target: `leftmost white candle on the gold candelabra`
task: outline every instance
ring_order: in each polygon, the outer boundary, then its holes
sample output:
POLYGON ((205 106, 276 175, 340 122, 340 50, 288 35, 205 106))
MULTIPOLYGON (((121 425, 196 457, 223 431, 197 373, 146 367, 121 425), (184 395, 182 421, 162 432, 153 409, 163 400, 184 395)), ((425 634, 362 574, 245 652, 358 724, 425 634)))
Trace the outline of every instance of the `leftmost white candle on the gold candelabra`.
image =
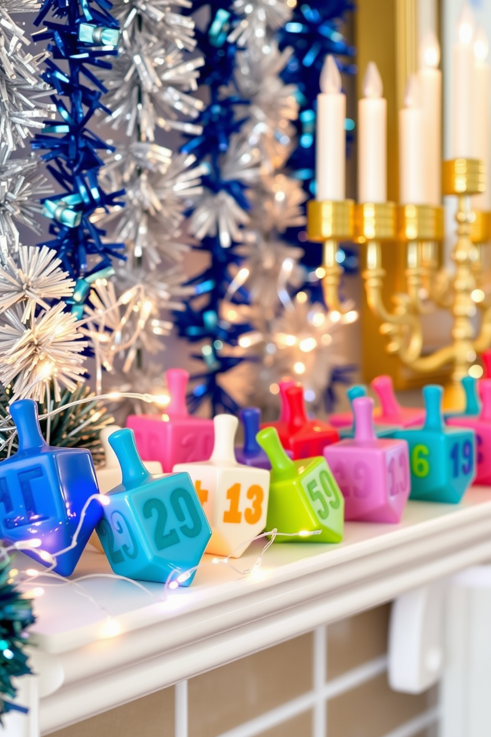
POLYGON ((346 96, 334 57, 326 57, 317 95, 317 200, 345 199, 346 96))

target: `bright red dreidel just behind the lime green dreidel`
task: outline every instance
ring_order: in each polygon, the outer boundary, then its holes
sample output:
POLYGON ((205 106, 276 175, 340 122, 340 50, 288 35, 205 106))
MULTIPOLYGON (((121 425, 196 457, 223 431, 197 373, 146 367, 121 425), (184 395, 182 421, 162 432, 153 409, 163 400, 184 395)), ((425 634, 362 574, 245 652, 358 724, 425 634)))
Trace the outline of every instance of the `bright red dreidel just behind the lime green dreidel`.
POLYGON ((286 401, 290 408, 288 447, 292 451, 292 458, 315 458, 322 455, 326 445, 339 441, 339 433, 327 422, 308 419, 301 386, 288 388, 286 401))

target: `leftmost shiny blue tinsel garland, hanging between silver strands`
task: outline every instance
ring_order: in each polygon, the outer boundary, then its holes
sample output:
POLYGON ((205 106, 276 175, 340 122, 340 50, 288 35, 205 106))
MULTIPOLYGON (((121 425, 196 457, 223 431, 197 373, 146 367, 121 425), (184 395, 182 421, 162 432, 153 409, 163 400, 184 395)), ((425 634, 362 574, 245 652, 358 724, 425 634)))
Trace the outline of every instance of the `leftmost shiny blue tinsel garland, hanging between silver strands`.
POLYGON ((45 0, 35 21, 43 24, 35 40, 49 41, 52 59, 46 61, 43 80, 54 88, 52 100, 60 115, 60 122, 47 122, 32 142, 32 148, 46 151, 41 158, 60 188, 60 194, 43 203, 54 236, 46 245, 57 251, 75 278, 124 258, 124 245, 104 242, 105 231, 91 222, 96 210, 121 205, 118 198, 124 194, 107 193, 99 185, 103 162, 98 152, 110 146, 88 129, 98 109, 109 112, 101 103, 105 87, 91 67, 110 69, 104 57, 118 53, 119 24, 110 9, 107 0, 45 0), (58 66, 58 60, 67 65, 58 66))

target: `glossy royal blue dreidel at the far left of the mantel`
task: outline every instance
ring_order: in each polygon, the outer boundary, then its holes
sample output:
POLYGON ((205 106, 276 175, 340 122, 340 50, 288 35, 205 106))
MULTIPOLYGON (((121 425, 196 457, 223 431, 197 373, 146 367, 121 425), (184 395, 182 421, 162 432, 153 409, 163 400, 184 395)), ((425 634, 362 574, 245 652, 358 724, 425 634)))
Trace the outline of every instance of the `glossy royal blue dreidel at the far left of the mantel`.
MULTIPOLYGON (((19 399, 10 405, 18 434, 18 451, 0 464, 0 537, 12 545, 40 539, 40 551, 52 555, 71 545, 89 497, 99 494, 92 456, 82 448, 49 446, 41 435, 38 405, 19 399)), ((56 556, 54 571, 70 576, 82 555, 102 506, 87 507, 72 550, 56 556)), ((25 551, 39 561, 38 554, 25 551)), ((51 565, 46 562, 45 565, 51 565)))

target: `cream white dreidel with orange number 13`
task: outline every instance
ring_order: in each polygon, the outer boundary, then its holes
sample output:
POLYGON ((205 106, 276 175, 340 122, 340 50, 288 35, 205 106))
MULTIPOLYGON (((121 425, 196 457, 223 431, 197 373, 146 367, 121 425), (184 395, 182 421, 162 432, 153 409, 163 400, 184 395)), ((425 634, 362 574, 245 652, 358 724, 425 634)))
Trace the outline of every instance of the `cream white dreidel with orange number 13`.
POLYGON ((209 461, 177 464, 186 471, 211 525, 207 553, 239 558, 248 543, 264 530, 268 511, 269 471, 236 461, 234 441, 239 420, 213 418, 215 444, 209 461))

